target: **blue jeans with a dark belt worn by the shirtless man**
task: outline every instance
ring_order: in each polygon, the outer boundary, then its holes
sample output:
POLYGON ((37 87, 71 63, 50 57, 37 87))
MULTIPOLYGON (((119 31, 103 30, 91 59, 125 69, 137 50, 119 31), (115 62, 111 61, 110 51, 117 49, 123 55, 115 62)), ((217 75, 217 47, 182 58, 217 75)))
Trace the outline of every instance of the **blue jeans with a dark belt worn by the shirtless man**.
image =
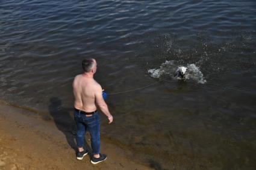
POLYGON ((99 125, 100 118, 98 112, 93 114, 91 117, 86 117, 86 115, 80 113, 80 111, 75 109, 74 119, 76 122, 77 132, 76 132, 76 145, 77 147, 83 147, 84 145, 84 134, 86 130, 89 130, 91 136, 91 146, 92 153, 99 154, 100 149, 100 135, 99 135, 99 125))

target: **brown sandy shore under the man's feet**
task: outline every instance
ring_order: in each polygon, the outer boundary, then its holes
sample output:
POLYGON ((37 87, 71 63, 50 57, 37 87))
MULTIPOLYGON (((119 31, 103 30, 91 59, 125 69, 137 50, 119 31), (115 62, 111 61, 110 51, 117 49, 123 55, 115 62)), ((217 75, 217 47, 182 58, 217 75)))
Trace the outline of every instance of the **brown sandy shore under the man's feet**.
MULTIPOLYGON (((90 144, 88 134, 86 139, 90 144)), ((151 169, 108 142, 101 142, 101 152, 108 157, 97 165, 90 163, 88 155, 76 160, 67 135, 53 121, 0 103, 0 169, 151 169)))

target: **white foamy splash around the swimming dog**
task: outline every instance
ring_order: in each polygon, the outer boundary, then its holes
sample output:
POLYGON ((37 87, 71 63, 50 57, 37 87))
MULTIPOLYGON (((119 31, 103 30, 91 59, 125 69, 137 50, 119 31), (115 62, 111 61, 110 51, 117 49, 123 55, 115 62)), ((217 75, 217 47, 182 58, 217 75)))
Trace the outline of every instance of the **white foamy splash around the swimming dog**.
MULTIPOLYGON (((172 78, 180 79, 179 77, 175 77, 174 75, 177 68, 181 66, 184 65, 175 64, 175 61, 165 61, 163 64, 160 65, 160 68, 149 69, 148 73, 151 77, 154 78, 160 78, 161 76, 170 76, 172 78)), ((192 79, 202 84, 207 82, 204 79, 204 74, 202 74, 199 67, 197 67, 195 64, 187 64, 186 67, 187 71, 184 76, 185 80, 192 79)))

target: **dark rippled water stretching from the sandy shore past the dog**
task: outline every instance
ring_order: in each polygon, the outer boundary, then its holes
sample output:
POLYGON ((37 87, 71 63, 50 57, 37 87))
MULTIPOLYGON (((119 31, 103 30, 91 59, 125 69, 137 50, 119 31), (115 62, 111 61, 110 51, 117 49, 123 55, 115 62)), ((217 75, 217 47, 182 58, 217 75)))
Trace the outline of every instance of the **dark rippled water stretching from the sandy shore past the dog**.
POLYGON ((108 96, 105 140, 155 169, 255 169, 255 9, 252 0, 2 0, 1 99, 61 111, 57 122, 72 129, 72 80, 93 57, 108 93, 138 88, 108 96), (167 74, 149 74, 166 61, 167 74), (200 75, 173 77, 188 65, 200 75))

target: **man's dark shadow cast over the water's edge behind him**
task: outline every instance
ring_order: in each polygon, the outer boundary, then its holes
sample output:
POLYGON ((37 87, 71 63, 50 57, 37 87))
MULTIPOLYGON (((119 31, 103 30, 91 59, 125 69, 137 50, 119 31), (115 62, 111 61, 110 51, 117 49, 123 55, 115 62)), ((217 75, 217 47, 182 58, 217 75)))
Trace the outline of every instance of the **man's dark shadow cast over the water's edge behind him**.
MULTIPOLYGON (((52 97, 50 99, 50 105, 48 106, 49 113, 54 119, 54 123, 58 130, 60 130, 65 136, 67 143, 73 150, 77 151, 76 148, 76 124, 73 120, 73 108, 63 108, 62 102, 58 97, 52 97), (72 116, 70 115, 72 112, 72 116)), ((92 150, 84 140, 84 148, 88 150, 89 156, 92 156, 92 150)))

